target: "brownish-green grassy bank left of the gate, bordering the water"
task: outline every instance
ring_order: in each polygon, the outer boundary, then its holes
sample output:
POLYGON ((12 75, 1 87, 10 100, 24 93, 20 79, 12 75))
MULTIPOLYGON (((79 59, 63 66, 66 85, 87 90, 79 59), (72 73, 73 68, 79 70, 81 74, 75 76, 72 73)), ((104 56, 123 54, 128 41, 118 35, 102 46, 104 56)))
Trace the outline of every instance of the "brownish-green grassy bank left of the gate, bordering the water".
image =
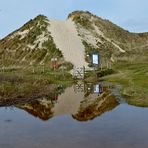
POLYGON ((67 71, 48 68, 7 69, 0 71, 0 100, 40 98, 73 82, 67 71))

